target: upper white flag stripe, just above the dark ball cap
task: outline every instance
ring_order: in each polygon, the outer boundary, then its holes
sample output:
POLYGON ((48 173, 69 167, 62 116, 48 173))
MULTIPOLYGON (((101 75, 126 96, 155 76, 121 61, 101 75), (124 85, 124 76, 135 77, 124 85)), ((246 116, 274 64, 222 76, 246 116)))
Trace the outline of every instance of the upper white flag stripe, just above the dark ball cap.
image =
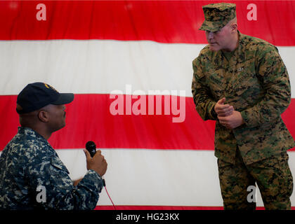
MULTIPOLYGON (((60 92, 125 93, 131 85, 132 93, 185 90, 192 97, 192 60, 202 48, 153 41, 2 41, 0 94, 18 94, 27 83, 44 81, 60 92)), ((278 49, 293 87, 295 47, 278 49)))

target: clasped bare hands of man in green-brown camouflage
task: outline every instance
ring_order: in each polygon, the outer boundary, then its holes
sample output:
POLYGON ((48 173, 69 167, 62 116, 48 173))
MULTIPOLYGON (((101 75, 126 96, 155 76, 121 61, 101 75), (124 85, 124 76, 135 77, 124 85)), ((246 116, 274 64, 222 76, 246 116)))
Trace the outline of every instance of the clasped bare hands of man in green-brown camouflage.
POLYGON ((219 123, 228 129, 234 129, 244 124, 244 120, 239 111, 235 111, 230 104, 224 104, 225 97, 219 99, 214 106, 219 123))

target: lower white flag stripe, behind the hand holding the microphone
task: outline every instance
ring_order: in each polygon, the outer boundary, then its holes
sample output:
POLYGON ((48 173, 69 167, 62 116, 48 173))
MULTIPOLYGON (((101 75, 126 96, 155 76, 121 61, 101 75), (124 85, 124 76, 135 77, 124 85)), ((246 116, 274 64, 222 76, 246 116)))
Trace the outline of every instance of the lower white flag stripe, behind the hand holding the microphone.
MULTIPOLYGON (((214 151, 100 149, 108 162, 105 181, 117 205, 223 206, 214 151)), ((86 172, 82 149, 58 150, 72 179, 86 172), (83 169, 84 168, 84 169, 83 169)), ((288 152, 295 174, 295 152, 288 152)), ((291 196, 295 204, 295 195, 291 196)), ((98 205, 111 205, 105 190, 98 205)), ((257 206, 263 206, 259 190, 257 206)))

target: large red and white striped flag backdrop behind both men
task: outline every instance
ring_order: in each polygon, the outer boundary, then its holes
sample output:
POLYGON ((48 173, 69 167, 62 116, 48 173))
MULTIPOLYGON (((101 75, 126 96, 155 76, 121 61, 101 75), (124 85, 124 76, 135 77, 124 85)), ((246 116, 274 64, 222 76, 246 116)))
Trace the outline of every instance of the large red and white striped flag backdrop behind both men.
MULTIPOLYGON (((41 81, 75 94, 49 139, 72 179, 84 176, 92 140, 118 208, 222 209, 215 122, 199 117, 191 93, 192 60, 206 45, 202 6, 218 2, 0 1, 0 151, 19 126, 18 93, 41 81)), ((295 137, 295 1, 226 2, 242 34, 277 46, 292 89, 282 118, 295 137)), ((112 209, 105 190, 96 209, 112 209)))

